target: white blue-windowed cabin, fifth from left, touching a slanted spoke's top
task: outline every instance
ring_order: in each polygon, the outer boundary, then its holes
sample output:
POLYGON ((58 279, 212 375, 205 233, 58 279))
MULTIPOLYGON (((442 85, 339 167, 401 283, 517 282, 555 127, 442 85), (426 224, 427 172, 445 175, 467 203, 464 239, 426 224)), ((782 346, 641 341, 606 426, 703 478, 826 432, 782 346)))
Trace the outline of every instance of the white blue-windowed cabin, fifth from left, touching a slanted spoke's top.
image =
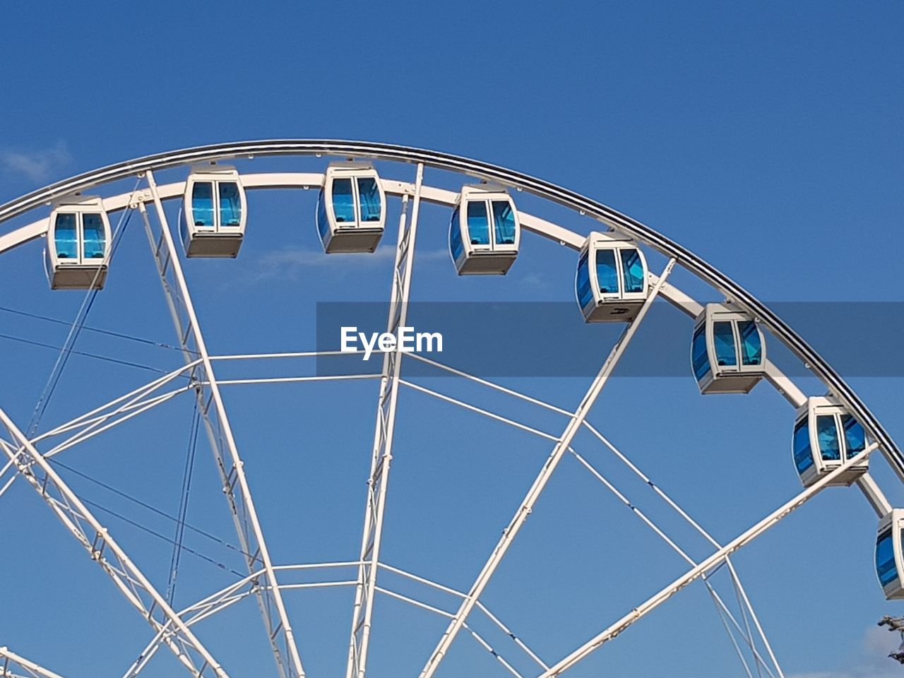
POLYGON ((580 250, 575 293, 588 323, 634 320, 649 293, 644 253, 627 236, 590 233, 580 250))

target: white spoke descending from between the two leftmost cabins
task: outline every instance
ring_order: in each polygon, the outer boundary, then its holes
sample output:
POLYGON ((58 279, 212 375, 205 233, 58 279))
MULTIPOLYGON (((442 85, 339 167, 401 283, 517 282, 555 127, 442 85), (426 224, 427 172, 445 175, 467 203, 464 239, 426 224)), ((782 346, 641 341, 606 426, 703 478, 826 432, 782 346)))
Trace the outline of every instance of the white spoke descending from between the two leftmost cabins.
POLYGON ((204 428, 207 430, 207 436, 214 457, 216 457, 217 468, 223 484, 223 494, 226 495, 230 504, 232 519, 239 535, 240 548, 245 554, 246 566, 249 572, 258 570, 258 565, 261 565, 264 570, 267 586, 257 587, 256 594, 278 672, 281 678, 304 678, 305 671, 298 654, 292 626, 288 621, 286 606, 283 603, 282 594, 279 592, 276 571, 270 560, 258 514, 251 500, 250 485, 245 475, 244 464, 232 436, 230 421, 226 416, 220 388, 213 373, 211 355, 207 351, 201 326, 195 315, 192 297, 189 295, 182 263, 166 220, 163 202, 157 192, 153 172, 148 170, 146 178, 160 227, 159 235, 155 234, 145 203, 138 202, 137 207, 145 222, 148 241, 154 254, 176 333, 182 345, 185 362, 195 363, 191 374, 198 400, 198 410, 202 414, 204 428))

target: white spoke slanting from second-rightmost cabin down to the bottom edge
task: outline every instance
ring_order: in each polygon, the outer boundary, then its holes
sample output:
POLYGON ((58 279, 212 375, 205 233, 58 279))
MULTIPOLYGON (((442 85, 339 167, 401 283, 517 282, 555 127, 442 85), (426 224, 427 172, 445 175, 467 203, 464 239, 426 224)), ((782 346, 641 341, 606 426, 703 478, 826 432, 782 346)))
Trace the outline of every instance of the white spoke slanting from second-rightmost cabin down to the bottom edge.
POLYGON ((872 443, 860 454, 852 457, 851 459, 848 459, 841 466, 835 468, 831 473, 826 474, 818 481, 816 481, 813 485, 807 487, 803 492, 797 494, 793 499, 779 506, 775 511, 769 513, 765 518, 749 528, 749 530, 741 533, 738 537, 736 537, 732 541, 729 541, 727 544, 725 544, 725 546, 713 553, 710 557, 702 560, 701 563, 695 568, 692 568, 691 570, 685 572, 683 576, 675 579, 672 583, 664 587, 664 589, 660 590, 658 593, 655 593, 650 598, 647 598, 645 602, 632 609, 624 617, 618 619, 615 624, 608 626, 596 636, 590 638, 587 643, 581 645, 574 652, 562 659, 558 664, 551 666, 550 670, 542 673, 540 678, 554 678, 555 676, 559 676, 561 673, 564 673, 575 664, 578 664, 582 659, 598 650, 599 647, 605 645, 609 640, 624 632, 638 619, 645 617, 656 607, 659 607, 666 600, 672 598, 676 593, 678 593, 678 591, 690 584, 694 579, 702 577, 702 575, 718 566, 732 553, 738 551, 741 547, 756 539, 763 532, 767 532, 769 528, 773 527, 782 519, 786 518, 786 516, 796 511, 796 509, 806 504, 816 494, 819 494, 827 485, 829 485, 837 476, 842 475, 851 466, 865 461, 871 455, 872 451, 876 449, 876 447, 878 447, 878 445, 876 443, 872 443))

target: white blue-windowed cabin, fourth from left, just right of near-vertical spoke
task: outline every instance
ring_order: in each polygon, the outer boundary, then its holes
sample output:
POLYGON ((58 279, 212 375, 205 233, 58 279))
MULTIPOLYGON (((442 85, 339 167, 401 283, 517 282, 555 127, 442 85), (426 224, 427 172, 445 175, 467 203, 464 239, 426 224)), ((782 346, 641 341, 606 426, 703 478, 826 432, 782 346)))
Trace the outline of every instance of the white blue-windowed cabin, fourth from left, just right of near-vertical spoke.
POLYGON ((518 211, 503 188, 462 187, 449 221, 449 253, 459 276, 504 276, 520 240, 518 211))

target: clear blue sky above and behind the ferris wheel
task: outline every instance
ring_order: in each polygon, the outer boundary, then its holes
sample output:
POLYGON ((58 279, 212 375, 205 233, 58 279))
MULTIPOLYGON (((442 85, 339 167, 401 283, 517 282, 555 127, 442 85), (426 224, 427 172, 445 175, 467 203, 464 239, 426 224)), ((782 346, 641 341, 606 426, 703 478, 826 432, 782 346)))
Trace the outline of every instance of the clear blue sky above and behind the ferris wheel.
MULTIPOLYGON (((586 193, 663 231, 767 301, 902 300, 896 285, 904 244, 899 4, 259 3, 252 11, 231 2, 161 2, 153 11, 95 3, 4 14, 0 202, 71 174, 184 146, 266 137, 367 139, 475 157, 586 193)), ((241 169, 322 167, 313 160, 255 163, 241 169)), ((410 167, 381 171, 413 178, 410 167)), ((452 186, 460 180, 434 173, 427 181, 452 186)), ((316 300, 388 294, 385 252, 327 259, 315 238, 314 196, 266 193, 251 197, 249 238, 239 259, 186 266, 214 353, 310 349, 316 300)), ((391 215, 397 209, 393 204, 391 215)), ((561 214, 553 210, 551 218, 561 214)), ((439 208, 422 213, 414 298, 572 298, 574 254, 536 238, 524 239, 510 276, 457 278, 443 253, 446 220, 439 208)), ((394 235, 391 227, 387 238, 394 235)), ((122 242, 89 325, 174 343, 137 218, 122 242)), ((81 296, 47 289, 40 243, 7 253, 3 264, 2 306, 74 317, 81 296)), ((681 281, 689 291, 701 289, 681 281)), ((842 326, 843 306, 835 312, 842 326)), ((0 317, 3 334, 55 345, 65 337, 61 325, 0 317)), ((585 330, 577 309, 574 327, 585 330)), ((690 331, 689 322, 686 336, 666 340, 686 343, 690 331)), ((807 338, 817 346, 826 341, 807 338)), ((8 340, 0 346, 0 406, 24 423, 56 355, 8 340)), ((77 348, 161 369, 179 361, 166 349, 97 334, 83 335, 77 348)), ((857 349, 852 341, 850 351, 857 349)), ((73 359, 44 421, 70 419, 152 377, 73 359)), ((574 408, 587 387, 586 379, 510 382, 564 408, 574 408)), ((558 433, 563 425, 466 385, 430 383, 544 430, 558 433)), ((904 439, 901 378, 852 383, 891 434, 904 439)), ((815 382, 803 386, 822 392, 815 382)), ((235 387, 226 398, 275 559, 355 558, 374 384, 235 387)), ((191 414, 191 400, 174 400, 61 461, 174 513, 191 414)), ((788 451, 792 416, 766 385, 745 398, 702 399, 688 374, 614 380, 590 419, 720 539, 729 539, 799 488, 788 451)), ((576 445, 694 555, 706 554, 679 523, 668 523, 673 518, 643 484, 619 475, 593 439, 576 445)), ((404 392, 387 558, 467 588, 548 452, 546 441, 404 392)), ((901 505, 899 485, 877 462, 876 477, 901 505)), ((172 531, 159 516, 67 473, 92 501, 172 531)), ((234 542, 203 446, 195 477, 189 521, 234 542)), ((15 582, 0 605, 18 611, 0 616, 0 645, 65 676, 118 675, 146 642, 147 627, 33 494, 17 483, 0 497, 0 539, 14 554, 0 571, 15 582)), ((169 545, 107 519, 152 579, 165 584, 169 545)), ((240 566, 221 544, 187 539, 213 560, 240 566)), ((833 490, 739 555, 741 578, 787 675, 897 674, 884 659, 894 639, 873 626, 882 615, 900 613, 884 601, 872 572, 874 539, 874 515, 860 494, 833 490)), ((487 603, 554 660, 681 571, 683 562, 570 459, 488 589, 487 603)), ((176 600, 184 605, 231 580, 227 570, 189 555, 182 577, 176 600)), ((287 598, 312 676, 343 665, 350 589, 336 590, 287 598)), ((373 675, 418 671, 443 621, 392 600, 380 606, 385 623, 374 632, 380 643, 373 675)), ((233 676, 268 672, 257 623, 249 600, 199 626, 199 635, 234 667, 233 676)), ((469 639, 461 638, 456 652, 442 675, 498 670, 469 639)), ((664 669, 680 676, 742 674, 699 584, 574 675, 664 669)), ((147 674, 174 671, 161 654, 147 674)))

